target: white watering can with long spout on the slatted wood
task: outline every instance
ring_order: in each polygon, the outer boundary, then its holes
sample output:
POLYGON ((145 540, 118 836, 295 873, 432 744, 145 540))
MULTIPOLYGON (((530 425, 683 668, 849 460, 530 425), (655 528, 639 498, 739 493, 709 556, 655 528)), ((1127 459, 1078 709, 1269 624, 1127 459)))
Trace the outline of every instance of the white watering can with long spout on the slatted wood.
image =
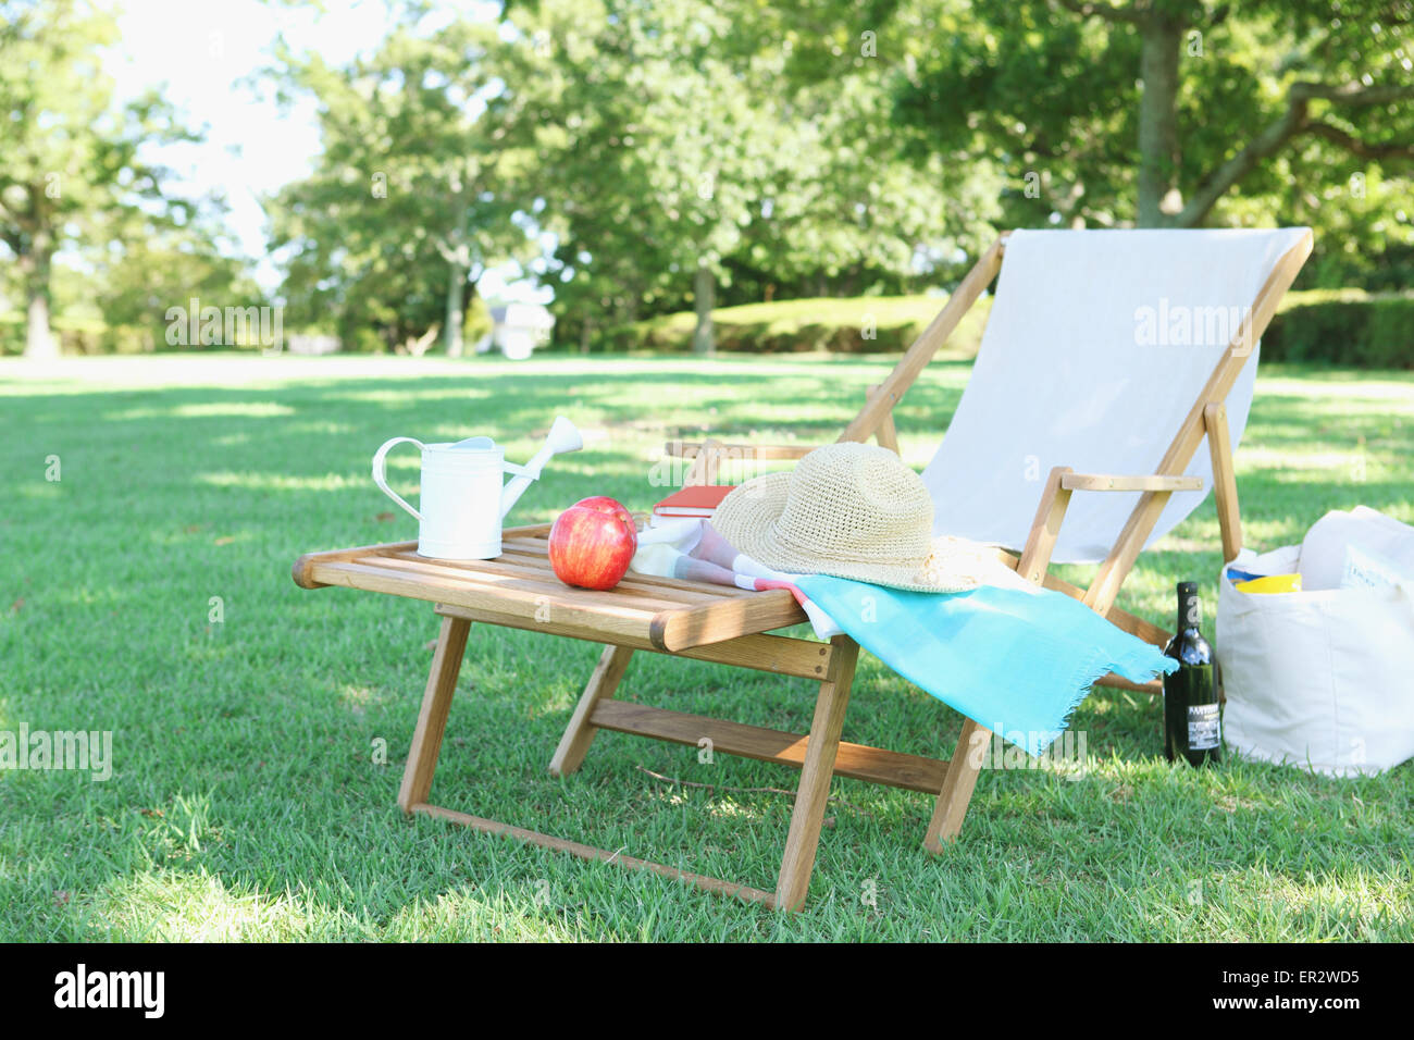
POLYGON ((489 560, 501 555, 501 521, 516 499, 540 477, 551 456, 578 451, 584 439, 564 416, 554 420, 544 447, 525 466, 506 461, 506 450, 491 437, 468 437, 455 444, 424 444, 416 437, 393 437, 373 456, 373 483, 417 518, 417 555, 443 560, 489 560), (385 460, 395 444, 417 444, 423 453, 421 509, 414 509, 387 487, 385 460), (501 474, 515 477, 502 487, 501 474))

